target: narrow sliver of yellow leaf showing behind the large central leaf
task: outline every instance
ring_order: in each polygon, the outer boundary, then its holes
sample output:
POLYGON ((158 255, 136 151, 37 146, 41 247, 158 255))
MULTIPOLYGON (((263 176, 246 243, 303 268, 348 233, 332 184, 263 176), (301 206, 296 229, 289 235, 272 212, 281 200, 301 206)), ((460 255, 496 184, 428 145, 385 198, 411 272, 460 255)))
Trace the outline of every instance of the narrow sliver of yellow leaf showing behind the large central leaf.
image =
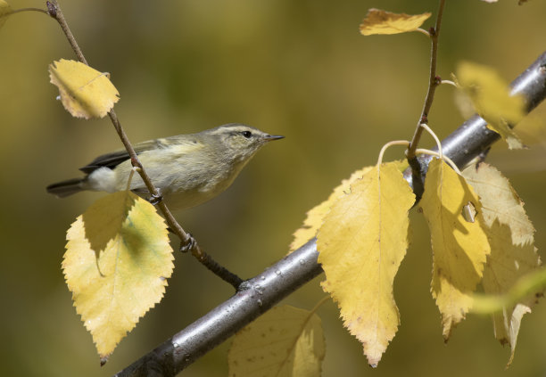
POLYGON ((326 201, 323 201, 307 212, 307 217, 303 221, 302 227, 294 232, 294 241, 290 244, 290 252, 300 248, 305 242, 308 242, 317 235, 318 228, 322 225, 322 220, 330 211, 332 204, 343 193, 349 193, 352 182, 360 179, 371 168, 373 167, 366 167, 353 172, 349 179, 343 179, 342 183, 335 187, 334 192, 330 194, 326 201))

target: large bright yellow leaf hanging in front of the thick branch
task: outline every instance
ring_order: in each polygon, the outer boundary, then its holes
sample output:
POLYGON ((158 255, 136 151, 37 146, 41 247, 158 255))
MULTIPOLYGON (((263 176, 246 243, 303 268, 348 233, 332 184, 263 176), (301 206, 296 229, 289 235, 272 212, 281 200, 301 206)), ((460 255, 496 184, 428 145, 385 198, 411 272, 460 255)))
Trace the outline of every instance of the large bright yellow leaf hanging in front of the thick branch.
POLYGON ((408 211, 415 202, 393 162, 369 169, 335 201, 318 231, 322 283, 343 324, 376 366, 398 329, 393 280, 408 248, 408 211))

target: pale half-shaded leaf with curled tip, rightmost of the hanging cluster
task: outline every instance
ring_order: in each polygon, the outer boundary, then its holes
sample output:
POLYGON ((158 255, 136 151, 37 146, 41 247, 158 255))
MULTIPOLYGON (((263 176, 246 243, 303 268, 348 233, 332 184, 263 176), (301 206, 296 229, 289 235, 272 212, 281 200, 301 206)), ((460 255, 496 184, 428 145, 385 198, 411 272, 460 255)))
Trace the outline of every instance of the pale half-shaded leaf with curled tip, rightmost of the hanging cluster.
MULTIPOLYGON (((523 202, 499 170, 481 163, 477 168, 465 169, 463 175, 480 196, 485 230, 491 242, 491 255, 484 267, 484 292, 508 293, 522 276, 541 266, 534 248, 534 226, 525 214, 523 202)), ((495 338, 510 345, 509 364, 514 357, 521 318, 531 312, 537 292, 525 293, 525 297, 492 315, 495 338)))

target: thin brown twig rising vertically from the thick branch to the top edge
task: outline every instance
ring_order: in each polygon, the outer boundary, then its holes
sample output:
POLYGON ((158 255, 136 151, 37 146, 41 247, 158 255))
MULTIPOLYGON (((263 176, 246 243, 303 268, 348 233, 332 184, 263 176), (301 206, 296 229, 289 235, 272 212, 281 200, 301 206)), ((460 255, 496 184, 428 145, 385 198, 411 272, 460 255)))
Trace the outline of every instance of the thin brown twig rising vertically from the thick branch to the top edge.
MULTIPOLYGON (((442 16, 443 16, 443 6, 445 5, 445 0, 440 0, 438 7, 438 14, 436 15, 436 25, 434 28, 431 28, 429 31, 429 36, 431 39, 431 53, 430 53, 430 75, 428 78, 428 91, 426 92, 425 104, 423 105, 423 111, 421 111, 421 116, 418 120, 418 126, 415 129, 415 134, 409 143, 408 152, 406 152, 409 165, 414 167, 418 164, 412 163, 412 160, 416 159, 415 151, 418 147, 419 139, 423 133, 423 128, 420 127, 421 123, 426 123, 428 119, 428 113, 432 107, 434 101, 434 91, 436 86, 440 85, 442 82, 441 78, 436 77, 436 60, 438 55, 438 37, 440 36, 440 27, 442 26, 442 16)), ((416 172, 417 173, 417 172, 416 172)), ((420 175, 420 172, 418 172, 420 175)))

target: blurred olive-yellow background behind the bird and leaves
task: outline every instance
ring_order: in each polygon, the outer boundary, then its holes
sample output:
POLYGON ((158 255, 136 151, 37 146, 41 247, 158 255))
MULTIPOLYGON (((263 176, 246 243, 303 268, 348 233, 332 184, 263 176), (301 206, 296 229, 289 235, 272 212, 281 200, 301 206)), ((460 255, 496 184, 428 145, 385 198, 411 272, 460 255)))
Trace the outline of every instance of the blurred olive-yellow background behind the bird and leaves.
MULTIPOLYGON (((446 5, 438 73, 458 61, 496 67, 515 78, 546 49, 546 2, 478 0, 446 5)), ((14 8, 44 7, 12 0, 14 8)), ((264 148, 219 198, 178 216, 222 264, 250 277, 285 255, 305 212, 344 177, 376 162, 383 143, 413 135, 427 86, 429 43, 418 33, 362 37, 370 7, 435 11, 437 1, 310 0, 62 1, 87 60, 108 71, 121 100, 116 111, 133 142, 244 122, 283 141, 264 148)), ((425 28, 432 26, 432 20, 425 28)), ((45 185, 78 176, 95 155, 120 148, 105 119, 73 119, 55 101, 47 65, 73 54, 61 29, 41 13, 22 13, 0 30, 0 311, 4 376, 108 376, 192 323, 232 290, 186 255, 160 305, 121 341, 103 368, 63 282, 65 231, 101 196, 56 200, 45 185)), ((442 86, 430 116, 441 137, 463 121, 454 89, 442 86)), ((542 106, 534 119, 546 121, 542 106), (542 118, 542 119, 541 119, 542 118)), ((546 137, 536 122, 519 127, 523 152, 498 143, 490 160, 527 203, 546 246, 546 137)), ((423 147, 431 146, 425 138, 423 147)), ((387 158, 402 156, 393 149, 387 158)), ((327 338, 324 375, 546 374, 546 307, 525 316, 516 357, 492 336, 483 316, 468 316, 447 345, 430 296, 431 251, 425 222, 411 214, 413 243, 395 280, 400 330, 376 370, 343 330, 335 306, 319 310, 327 338)), ((310 308, 318 282, 285 301, 310 308)), ((189 367, 186 376, 227 373, 229 341, 189 367)))

